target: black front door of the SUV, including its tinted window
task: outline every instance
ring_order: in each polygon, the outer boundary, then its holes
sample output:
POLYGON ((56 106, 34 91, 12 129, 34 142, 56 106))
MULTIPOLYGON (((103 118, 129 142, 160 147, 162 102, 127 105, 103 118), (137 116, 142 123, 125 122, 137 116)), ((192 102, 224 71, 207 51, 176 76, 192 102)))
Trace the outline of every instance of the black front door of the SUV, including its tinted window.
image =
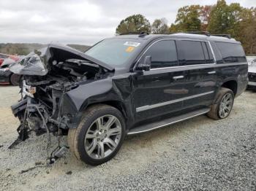
POLYGON ((138 121, 180 110, 179 98, 184 95, 184 71, 173 71, 178 66, 176 42, 170 39, 154 42, 139 62, 147 55, 151 55, 150 71, 138 72, 133 79, 138 121))

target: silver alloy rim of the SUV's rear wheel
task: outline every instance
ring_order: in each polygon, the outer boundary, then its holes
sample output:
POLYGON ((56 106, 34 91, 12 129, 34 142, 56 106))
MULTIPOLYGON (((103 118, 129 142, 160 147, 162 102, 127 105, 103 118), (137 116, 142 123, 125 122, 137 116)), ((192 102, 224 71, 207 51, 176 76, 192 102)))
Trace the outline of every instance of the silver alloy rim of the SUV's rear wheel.
POLYGON ((231 93, 227 93, 223 96, 222 101, 220 101, 219 104, 219 117, 225 118, 228 114, 230 114, 230 111, 233 106, 233 95, 231 93))

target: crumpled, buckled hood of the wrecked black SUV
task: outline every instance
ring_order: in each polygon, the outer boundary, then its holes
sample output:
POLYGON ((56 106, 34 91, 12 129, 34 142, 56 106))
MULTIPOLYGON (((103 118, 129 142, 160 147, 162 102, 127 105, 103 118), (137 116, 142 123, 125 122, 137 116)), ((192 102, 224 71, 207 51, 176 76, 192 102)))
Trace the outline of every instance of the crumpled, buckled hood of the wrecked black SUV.
POLYGON ((113 67, 108 64, 91 58, 89 55, 75 50, 72 47, 60 44, 49 44, 48 47, 42 48, 41 50, 35 50, 20 59, 20 61, 13 63, 10 66, 10 71, 20 75, 45 76, 50 69, 50 63, 64 62, 67 61, 67 59, 72 58, 96 63, 109 71, 114 70, 113 67))

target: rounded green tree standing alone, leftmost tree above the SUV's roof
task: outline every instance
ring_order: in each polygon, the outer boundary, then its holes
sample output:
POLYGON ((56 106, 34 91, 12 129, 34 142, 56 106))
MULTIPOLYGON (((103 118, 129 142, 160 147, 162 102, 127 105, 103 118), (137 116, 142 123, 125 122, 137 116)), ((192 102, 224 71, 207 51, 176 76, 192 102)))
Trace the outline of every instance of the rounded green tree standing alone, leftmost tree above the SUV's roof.
POLYGON ((128 32, 142 32, 151 31, 149 21, 143 15, 131 15, 124 20, 121 20, 116 28, 116 34, 128 33, 128 32))

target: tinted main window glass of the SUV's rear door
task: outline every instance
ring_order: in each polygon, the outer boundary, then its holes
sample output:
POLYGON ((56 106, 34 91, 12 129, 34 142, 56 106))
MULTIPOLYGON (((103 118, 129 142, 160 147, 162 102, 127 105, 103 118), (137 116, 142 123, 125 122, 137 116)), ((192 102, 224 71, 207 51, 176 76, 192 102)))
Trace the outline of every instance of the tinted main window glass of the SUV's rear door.
POLYGON ((206 63, 203 47, 199 41, 181 41, 181 51, 184 54, 185 65, 206 63))

